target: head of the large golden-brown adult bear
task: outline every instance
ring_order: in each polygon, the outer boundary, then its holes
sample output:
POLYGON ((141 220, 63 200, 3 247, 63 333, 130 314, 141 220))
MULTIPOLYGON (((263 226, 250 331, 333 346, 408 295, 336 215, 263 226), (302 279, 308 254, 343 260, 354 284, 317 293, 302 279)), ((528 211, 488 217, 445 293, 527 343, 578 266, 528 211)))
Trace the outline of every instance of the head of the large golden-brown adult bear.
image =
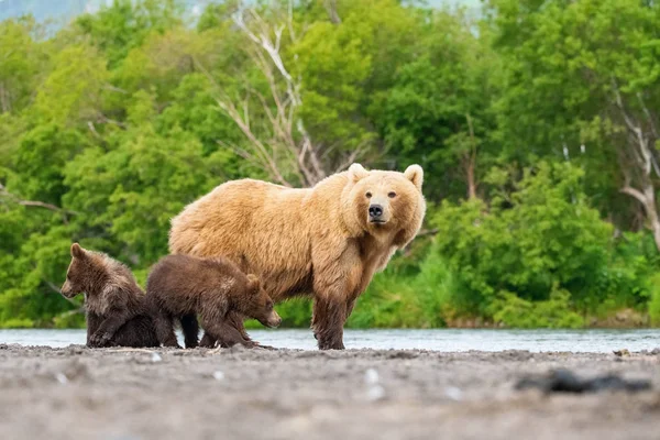
MULTIPOLYGON (((366 170, 353 164, 342 195, 342 211, 349 226, 373 235, 396 233, 421 226, 426 204, 421 194, 424 170, 410 165, 404 173, 366 170)), ((354 229, 354 228, 352 228, 354 229)))

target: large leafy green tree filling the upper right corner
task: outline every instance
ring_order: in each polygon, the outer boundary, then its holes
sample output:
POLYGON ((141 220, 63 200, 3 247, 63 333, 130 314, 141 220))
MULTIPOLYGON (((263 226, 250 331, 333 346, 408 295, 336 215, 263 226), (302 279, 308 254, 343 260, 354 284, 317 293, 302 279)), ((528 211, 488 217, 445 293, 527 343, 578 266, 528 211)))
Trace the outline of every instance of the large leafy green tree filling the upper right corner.
POLYGON ((583 162, 594 175, 618 165, 617 178, 604 185, 644 207, 660 250, 657 6, 632 0, 491 4, 509 66, 498 107, 501 139, 509 152, 586 154, 583 162))

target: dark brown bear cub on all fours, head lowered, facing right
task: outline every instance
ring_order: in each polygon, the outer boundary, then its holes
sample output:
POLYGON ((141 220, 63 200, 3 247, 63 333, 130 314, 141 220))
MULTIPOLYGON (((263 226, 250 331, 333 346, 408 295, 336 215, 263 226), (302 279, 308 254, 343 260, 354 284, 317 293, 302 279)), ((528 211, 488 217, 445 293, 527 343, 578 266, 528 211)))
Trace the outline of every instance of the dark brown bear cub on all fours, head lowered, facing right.
POLYGON ((186 348, 198 345, 198 322, 205 330, 201 346, 255 346, 232 323, 231 316, 254 318, 277 327, 282 318, 258 278, 245 275, 224 257, 199 258, 168 255, 152 268, 146 280, 146 299, 164 346, 179 346, 174 321, 180 322, 186 348))

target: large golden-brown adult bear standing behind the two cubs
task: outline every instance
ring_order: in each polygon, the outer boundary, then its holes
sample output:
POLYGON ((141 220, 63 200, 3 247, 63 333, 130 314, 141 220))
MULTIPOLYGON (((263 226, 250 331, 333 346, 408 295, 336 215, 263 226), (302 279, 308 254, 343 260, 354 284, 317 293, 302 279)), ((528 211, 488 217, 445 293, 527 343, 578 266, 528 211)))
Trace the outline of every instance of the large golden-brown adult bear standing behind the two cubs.
POLYGON ((256 274, 275 301, 314 295, 319 348, 343 349, 356 298, 421 227, 422 179, 419 165, 397 173, 353 164, 308 189, 228 182, 172 220, 169 250, 224 255, 256 274))

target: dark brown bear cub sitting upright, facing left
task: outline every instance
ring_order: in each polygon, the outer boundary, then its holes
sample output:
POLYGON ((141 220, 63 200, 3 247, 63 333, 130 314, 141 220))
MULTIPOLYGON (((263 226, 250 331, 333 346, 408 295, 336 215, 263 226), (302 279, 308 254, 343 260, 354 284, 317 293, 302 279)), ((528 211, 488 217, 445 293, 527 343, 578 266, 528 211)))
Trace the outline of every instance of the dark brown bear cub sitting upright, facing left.
POLYGON ((158 346, 144 292, 133 273, 100 252, 74 243, 62 295, 85 293, 87 346, 158 346))

